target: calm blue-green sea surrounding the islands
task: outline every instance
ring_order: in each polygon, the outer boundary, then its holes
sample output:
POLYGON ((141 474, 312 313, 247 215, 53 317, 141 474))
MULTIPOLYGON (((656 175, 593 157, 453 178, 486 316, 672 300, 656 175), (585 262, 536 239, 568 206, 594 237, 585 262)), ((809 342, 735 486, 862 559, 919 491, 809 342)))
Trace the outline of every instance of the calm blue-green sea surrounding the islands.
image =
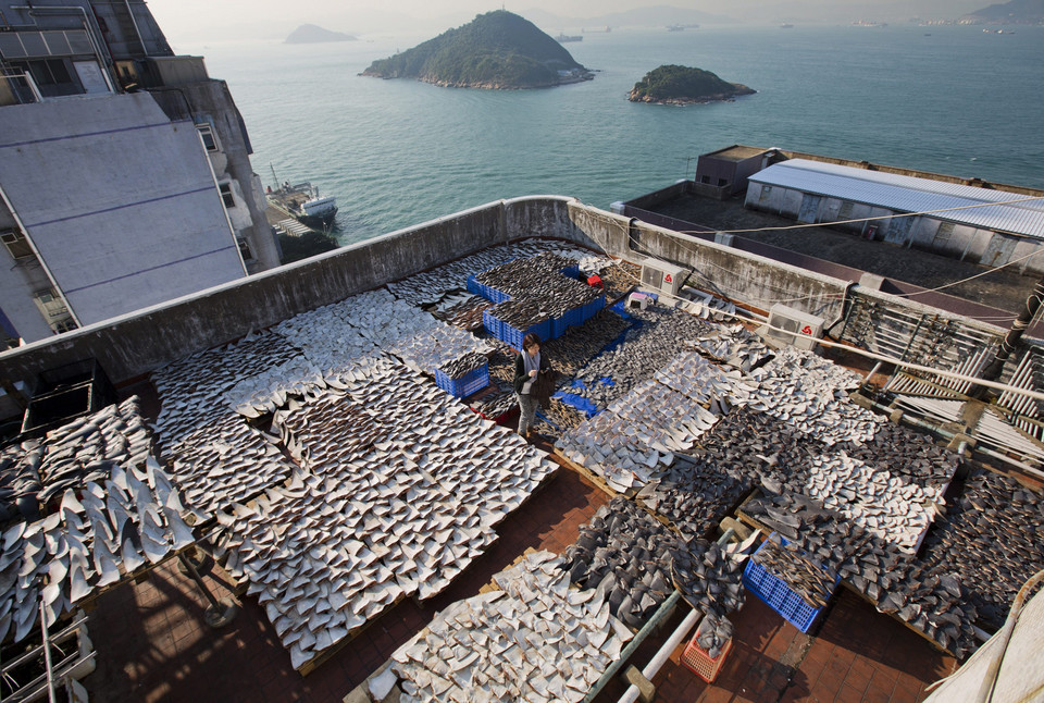
POLYGON ((343 243, 523 195, 607 208, 692 175, 731 144, 779 146, 1044 187, 1044 27, 617 29, 566 47, 598 73, 545 90, 439 88, 358 74, 427 36, 177 46, 228 82, 272 183, 337 196, 343 243), (758 94, 627 102, 646 72, 699 66, 758 94))

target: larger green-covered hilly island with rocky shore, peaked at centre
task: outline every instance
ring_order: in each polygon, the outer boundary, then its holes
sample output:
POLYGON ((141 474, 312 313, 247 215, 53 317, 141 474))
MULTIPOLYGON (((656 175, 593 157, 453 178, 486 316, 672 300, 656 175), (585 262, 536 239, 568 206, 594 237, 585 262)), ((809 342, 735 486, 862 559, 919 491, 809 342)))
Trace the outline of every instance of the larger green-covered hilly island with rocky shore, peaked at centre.
POLYGON ((546 88, 593 77, 562 45, 505 10, 480 14, 402 53, 374 61, 361 75, 500 90, 546 88))

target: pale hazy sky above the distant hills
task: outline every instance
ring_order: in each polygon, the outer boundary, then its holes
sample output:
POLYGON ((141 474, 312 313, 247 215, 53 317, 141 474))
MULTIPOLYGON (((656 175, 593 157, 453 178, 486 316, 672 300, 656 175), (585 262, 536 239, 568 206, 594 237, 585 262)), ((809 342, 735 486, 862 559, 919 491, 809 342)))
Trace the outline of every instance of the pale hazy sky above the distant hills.
MULTIPOLYGON (((526 16, 532 10, 577 20, 633 10, 671 5, 726 15, 741 22, 847 23, 868 18, 905 21, 913 15, 954 18, 991 4, 992 0, 505 0, 506 9, 526 16)), ((425 32, 435 36, 496 10, 488 0, 149 0, 167 40, 179 42, 220 39, 284 38, 301 24, 318 24, 349 34, 425 32)))

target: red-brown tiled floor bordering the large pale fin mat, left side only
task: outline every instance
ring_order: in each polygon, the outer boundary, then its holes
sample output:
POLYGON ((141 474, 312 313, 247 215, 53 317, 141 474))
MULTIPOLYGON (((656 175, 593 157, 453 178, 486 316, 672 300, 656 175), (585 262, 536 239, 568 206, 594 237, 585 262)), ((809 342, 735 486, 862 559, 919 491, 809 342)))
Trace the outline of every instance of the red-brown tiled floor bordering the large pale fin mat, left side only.
MULTIPOLYGON (((239 599, 236 619, 211 629, 203 622, 207 600, 169 562, 141 583, 125 583, 98 600, 88 622, 97 669, 84 683, 91 700, 107 703, 339 702, 435 613, 477 594, 529 547, 561 553, 608 501, 584 478, 560 468, 501 522, 497 542, 446 591, 421 603, 400 602, 307 677, 290 666, 257 599, 239 599)), ((234 584, 220 568, 204 581, 216 597, 234 599, 234 584)))

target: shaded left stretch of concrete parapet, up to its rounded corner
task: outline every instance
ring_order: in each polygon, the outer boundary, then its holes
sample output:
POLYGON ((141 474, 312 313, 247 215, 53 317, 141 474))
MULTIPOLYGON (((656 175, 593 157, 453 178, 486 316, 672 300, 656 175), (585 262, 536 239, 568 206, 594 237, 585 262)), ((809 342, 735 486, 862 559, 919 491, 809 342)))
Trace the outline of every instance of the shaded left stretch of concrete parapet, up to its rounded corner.
MULTIPOLYGON (((518 236, 561 236, 564 198, 493 203, 336 249, 306 261, 85 326, 0 354, 0 377, 30 381, 38 371, 97 358, 116 383, 194 351, 369 291, 518 236), (505 236, 507 234, 507 236, 505 236)), ((568 227, 567 227, 568 225, 568 227)), ((579 235, 574 238, 581 239, 579 235)))

